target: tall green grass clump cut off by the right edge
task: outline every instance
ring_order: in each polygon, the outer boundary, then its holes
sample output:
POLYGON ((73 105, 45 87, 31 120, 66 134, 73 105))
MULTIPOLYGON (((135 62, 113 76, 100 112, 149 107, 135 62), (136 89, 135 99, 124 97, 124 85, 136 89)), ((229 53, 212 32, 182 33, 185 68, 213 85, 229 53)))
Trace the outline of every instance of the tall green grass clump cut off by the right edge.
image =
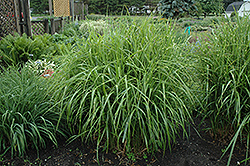
MULTIPOLYGON (((204 82, 202 114, 216 134, 234 132, 228 165, 238 138, 249 147, 250 24, 249 18, 217 25, 207 44, 197 49, 197 71, 204 82)), ((248 157, 248 148, 246 157, 248 157)))

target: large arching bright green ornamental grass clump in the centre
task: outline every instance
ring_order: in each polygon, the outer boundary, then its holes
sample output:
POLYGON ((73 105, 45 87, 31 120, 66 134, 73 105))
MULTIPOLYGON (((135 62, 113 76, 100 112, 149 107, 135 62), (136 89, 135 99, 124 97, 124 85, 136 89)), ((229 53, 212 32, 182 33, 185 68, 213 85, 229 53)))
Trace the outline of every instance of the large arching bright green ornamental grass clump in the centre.
POLYGON ((180 131, 187 136, 191 77, 178 60, 173 22, 150 22, 115 22, 103 36, 90 30, 75 56, 65 58, 53 97, 62 101, 71 139, 107 151, 154 152, 171 149, 180 131))

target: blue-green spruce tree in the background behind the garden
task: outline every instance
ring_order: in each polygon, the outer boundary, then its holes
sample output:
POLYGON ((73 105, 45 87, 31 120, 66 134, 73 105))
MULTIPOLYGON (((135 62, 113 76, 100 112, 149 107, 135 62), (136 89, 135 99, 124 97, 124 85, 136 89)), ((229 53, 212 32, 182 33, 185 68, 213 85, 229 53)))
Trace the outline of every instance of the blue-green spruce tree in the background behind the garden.
POLYGON ((190 10, 197 10, 193 0, 161 0, 160 10, 163 17, 178 18, 182 14, 190 13, 190 10))

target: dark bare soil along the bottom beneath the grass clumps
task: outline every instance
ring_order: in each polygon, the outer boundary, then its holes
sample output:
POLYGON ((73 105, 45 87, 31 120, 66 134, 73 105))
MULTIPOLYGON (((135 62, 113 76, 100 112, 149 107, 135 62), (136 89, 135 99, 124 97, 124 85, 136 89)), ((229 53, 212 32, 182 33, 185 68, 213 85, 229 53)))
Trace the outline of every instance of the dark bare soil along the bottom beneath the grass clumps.
MULTIPOLYGON (((204 124, 206 125, 206 124, 204 124)), ((203 125, 203 127, 205 127, 203 125)), ((197 132, 191 128, 189 140, 177 139, 172 152, 166 150, 157 152, 154 155, 124 155, 121 152, 100 152, 100 165, 131 165, 131 166, 226 166, 228 154, 220 160, 222 151, 225 149, 220 141, 213 140, 204 131, 197 132)), ((242 148, 243 149, 243 148, 242 148)), ((241 148, 236 148, 231 164, 232 166, 245 165, 239 163, 244 160, 245 152, 241 148)), ((35 151, 28 151, 25 158, 11 159, 9 154, 0 159, 0 165, 14 166, 73 166, 73 165, 98 165, 96 159, 95 146, 87 145, 76 140, 69 145, 65 141, 60 141, 58 148, 48 146, 40 151, 39 158, 35 151)), ((250 165, 250 163, 247 163, 250 165)))

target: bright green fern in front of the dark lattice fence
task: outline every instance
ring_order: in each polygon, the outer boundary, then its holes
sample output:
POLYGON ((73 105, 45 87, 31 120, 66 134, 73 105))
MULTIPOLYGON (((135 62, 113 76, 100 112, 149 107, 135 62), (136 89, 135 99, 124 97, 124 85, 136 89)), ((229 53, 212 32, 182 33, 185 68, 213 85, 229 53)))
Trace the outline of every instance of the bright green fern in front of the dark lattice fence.
POLYGON ((8 35, 0 41, 1 63, 3 66, 18 65, 29 59, 41 59, 44 55, 54 55, 57 45, 52 43, 51 35, 34 36, 29 38, 26 34, 20 36, 8 35))

